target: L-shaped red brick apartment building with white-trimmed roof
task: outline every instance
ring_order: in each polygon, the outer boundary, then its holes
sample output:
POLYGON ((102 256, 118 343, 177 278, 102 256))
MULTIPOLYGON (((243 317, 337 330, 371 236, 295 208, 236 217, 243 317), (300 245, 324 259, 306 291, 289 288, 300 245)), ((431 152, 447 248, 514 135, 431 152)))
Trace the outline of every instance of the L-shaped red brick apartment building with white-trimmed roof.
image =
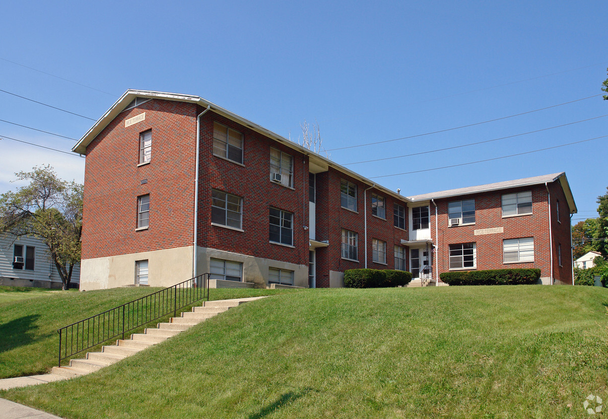
POLYGON ((212 286, 341 286, 365 267, 434 283, 534 266, 572 283, 563 173, 408 198, 201 97, 131 90, 73 151, 86 155, 81 289, 204 272, 212 286))

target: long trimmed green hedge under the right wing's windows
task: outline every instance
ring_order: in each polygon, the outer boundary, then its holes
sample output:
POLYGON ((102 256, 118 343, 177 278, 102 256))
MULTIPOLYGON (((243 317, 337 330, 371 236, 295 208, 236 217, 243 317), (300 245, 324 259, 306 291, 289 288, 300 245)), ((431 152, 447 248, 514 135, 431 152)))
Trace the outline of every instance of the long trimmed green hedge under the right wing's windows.
POLYGON ((439 277, 449 285, 520 285, 537 283, 541 269, 488 269, 486 271, 443 272, 439 277))

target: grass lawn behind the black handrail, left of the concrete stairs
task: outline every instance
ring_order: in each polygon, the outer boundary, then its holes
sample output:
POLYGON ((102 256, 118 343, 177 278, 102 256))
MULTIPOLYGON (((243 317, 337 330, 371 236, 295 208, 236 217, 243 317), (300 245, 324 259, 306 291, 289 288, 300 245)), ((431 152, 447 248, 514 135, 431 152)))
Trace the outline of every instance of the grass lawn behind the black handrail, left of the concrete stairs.
MULTIPOLYGON (((114 288, 80 293, 73 290, 2 287, 0 378, 48 372, 57 365, 58 328, 143 297, 157 289, 161 288, 114 288), (4 291, 4 288, 11 289, 4 291), (4 294, 14 297, 5 301, 2 299, 4 294)), ((271 293, 273 291, 265 289, 212 289, 210 297, 217 300, 271 293)), ((158 321, 160 320, 156 320, 158 321)), ((153 327, 156 322, 152 324, 153 327)), ((74 358, 83 358, 85 354, 86 351, 74 358)))

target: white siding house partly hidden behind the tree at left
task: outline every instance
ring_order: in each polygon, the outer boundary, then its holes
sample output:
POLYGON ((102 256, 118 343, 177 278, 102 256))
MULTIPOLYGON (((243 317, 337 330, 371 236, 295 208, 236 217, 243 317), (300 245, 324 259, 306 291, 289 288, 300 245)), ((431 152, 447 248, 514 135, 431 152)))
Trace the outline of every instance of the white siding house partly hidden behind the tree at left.
MULTIPOLYGON (((79 282, 80 263, 72 271, 72 287, 79 282)), ((0 234, 0 285, 61 288, 46 244, 35 237, 0 234)))

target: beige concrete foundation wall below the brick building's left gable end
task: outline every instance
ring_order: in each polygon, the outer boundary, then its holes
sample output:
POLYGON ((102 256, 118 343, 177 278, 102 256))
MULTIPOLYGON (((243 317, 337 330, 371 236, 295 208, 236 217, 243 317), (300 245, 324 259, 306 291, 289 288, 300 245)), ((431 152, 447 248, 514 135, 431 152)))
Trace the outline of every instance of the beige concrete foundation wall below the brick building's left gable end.
POLYGON ((148 260, 148 285, 171 286, 192 278, 192 246, 81 260, 80 290, 135 283, 135 262, 148 260))

